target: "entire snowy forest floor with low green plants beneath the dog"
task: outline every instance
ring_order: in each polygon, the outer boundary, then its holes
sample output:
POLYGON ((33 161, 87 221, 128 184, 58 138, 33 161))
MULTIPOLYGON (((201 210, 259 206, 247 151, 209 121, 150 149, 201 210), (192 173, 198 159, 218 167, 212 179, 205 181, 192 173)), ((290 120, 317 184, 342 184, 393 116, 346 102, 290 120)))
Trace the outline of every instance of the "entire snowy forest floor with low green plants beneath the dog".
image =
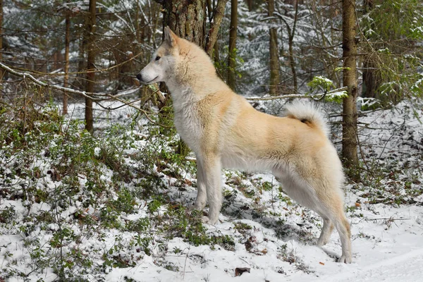
POLYGON ((98 109, 97 137, 68 118, 37 121, 23 139, 10 130, 0 281, 423 281, 422 107, 411 105, 360 115, 362 180, 344 189, 352 264, 336 262, 336 231, 315 245, 321 218, 268 173, 223 171, 219 223, 202 224, 188 210, 195 159, 132 109, 98 109))

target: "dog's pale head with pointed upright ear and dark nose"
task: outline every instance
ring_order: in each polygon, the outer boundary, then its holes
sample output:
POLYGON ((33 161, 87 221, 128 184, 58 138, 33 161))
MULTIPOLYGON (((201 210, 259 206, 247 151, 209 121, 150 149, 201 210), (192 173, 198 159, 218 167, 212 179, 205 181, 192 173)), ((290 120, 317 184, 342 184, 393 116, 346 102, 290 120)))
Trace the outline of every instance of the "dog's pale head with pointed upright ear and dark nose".
POLYGON ((169 27, 164 27, 163 42, 154 52, 152 61, 137 74, 142 84, 166 82, 170 78, 178 58, 178 40, 180 38, 169 27))

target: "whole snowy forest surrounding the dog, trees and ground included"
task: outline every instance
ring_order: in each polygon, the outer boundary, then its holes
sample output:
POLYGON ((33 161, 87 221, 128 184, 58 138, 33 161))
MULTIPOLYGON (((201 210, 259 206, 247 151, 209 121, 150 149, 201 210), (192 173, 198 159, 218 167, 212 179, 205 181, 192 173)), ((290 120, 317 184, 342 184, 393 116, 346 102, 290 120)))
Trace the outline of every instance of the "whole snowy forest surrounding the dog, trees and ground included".
POLYGON ((0 0, 0 282, 420 281, 422 95, 418 0, 0 0), (190 209, 172 93, 137 79, 165 27, 255 109, 323 111, 352 264, 266 171, 190 209))

